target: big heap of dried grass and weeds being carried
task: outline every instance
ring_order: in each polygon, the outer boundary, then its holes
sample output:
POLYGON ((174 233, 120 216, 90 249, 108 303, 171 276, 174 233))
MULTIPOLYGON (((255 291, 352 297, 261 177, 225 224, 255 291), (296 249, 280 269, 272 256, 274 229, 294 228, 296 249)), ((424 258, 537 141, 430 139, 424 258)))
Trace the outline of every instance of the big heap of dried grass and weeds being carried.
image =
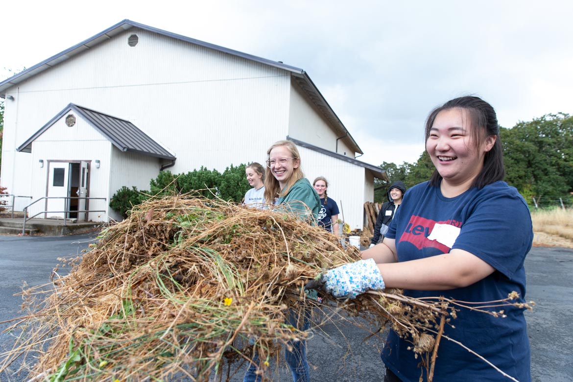
MULTIPOLYGON (((29 314, 7 329, 17 341, 0 371, 21 357, 42 381, 207 381, 256 349, 268 379, 281 347, 308 336, 285 324, 289 311, 320 307, 305 283, 358 258, 335 235, 285 212, 190 195, 150 199, 69 261, 55 292, 25 290, 29 314)), ((324 299, 337 305, 332 315, 343 310, 374 332, 389 324, 410 338, 430 370, 457 305, 400 292, 324 299)))

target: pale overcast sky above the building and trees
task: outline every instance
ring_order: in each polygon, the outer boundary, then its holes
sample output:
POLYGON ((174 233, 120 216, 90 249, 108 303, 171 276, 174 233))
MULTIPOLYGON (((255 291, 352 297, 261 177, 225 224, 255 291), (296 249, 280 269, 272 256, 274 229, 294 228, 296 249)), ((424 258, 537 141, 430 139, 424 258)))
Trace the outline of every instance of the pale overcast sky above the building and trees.
POLYGON ((123 19, 304 69, 359 160, 415 162, 436 105, 466 94, 503 127, 573 113, 573 1, 3 2, 0 74, 123 19))

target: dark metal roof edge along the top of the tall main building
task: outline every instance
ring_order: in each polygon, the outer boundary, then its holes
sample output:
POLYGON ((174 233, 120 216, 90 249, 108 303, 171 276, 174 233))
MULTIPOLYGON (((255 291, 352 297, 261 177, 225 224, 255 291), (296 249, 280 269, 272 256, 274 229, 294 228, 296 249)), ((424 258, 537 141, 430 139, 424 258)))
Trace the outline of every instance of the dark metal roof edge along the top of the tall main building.
POLYGON ((350 148, 354 152, 358 152, 360 154, 363 153, 362 150, 360 149, 360 147, 358 146, 358 144, 356 143, 356 141, 354 140, 354 138, 350 135, 350 133, 348 132, 346 127, 340 121, 340 119, 338 118, 336 113, 332 110, 330 105, 328 105, 328 103, 324 99, 323 95, 319 92, 319 90, 316 88, 315 84, 312 82, 311 78, 308 76, 308 74, 303 69, 296 68, 295 66, 291 66, 291 65, 285 65, 282 62, 267 60, 266 58, 253 56, 252 54, 242 53, 242 52, 239 52, 238 50, 223 48, 223 46, 209 44, 209 42, 195 40, 194 38, 181 36, 180 34, 171 33, 171 32, 166 31, 166 30, 162 30, 162 29, 158 29, 158 28, 155 28, 152 26, 140 24, 138 22, 131 21, 128 19, 120 21, 116 25, 113 25, 113 26, 109 27, 108 29, 101 31, 100 33, 96 34, 95 36, 92 36, 92 37, 88 38, 87 40, 84 40, 84 41, 80 42, 79 44, 74 45, 71 48, 64 50, 63 52, 56 54, 55 56, 52 56, 52 57, 48 58, 47 60, 44 60, 44 61, 40 62, 39 64, 32 66, 29 69, 23 70, 20 73, 14 74, 14 76, 7 78, 7 80, 0 82, 0 97, 5 98, 6 97, 6 90, 11 88, 11 86, 17 85, 20 82, 25 81, 28 78, 30 78, 30 77, 32 77, 32 76, 34 76, 40 72, 43 72, 44 70, 52 68, 52 66, 57 65, 62 61, 68 60, 69 58, 72 58, 73 56, 76 56, 77 54, 85 52, 85 50, 89 50, 89 49, 93 48, 94 46, 100 44, 101 42, 110 40, 112 37, 117 36, 117 34, 120 34, 125 30, 131 29, 132 27, 151 31, 153 33, 158 33, 158 34, 161 34, 163 36, 176 38, 177 40, 190 42, 191 44, 204 46, 205 48, 218 50, 219 52, 231 54, 231 55, 237 56, 237 57, 242 57, 242 58, 245 58, 246 60, 252 60, 252 61, 260 62, 261 64, 274 66, 275 68, 279 68, 279 69, 283 69, 283 70, 287 70, 288 72, 291 72, 292 75, 295 77, 296 82, 300 86, 300 88, 303 89, 303 91, 307 94, 309 99, 311 99, 312 102, 316 105, 316 107, 323 113, 324 117, 328 121, 330 121, 330 123, 332 123, 332 125, 335 127, 335 129, 337 129, 340 132, 340 137, 344 137, 345 139, 350 141, 350 144, 351 144, 350 148))

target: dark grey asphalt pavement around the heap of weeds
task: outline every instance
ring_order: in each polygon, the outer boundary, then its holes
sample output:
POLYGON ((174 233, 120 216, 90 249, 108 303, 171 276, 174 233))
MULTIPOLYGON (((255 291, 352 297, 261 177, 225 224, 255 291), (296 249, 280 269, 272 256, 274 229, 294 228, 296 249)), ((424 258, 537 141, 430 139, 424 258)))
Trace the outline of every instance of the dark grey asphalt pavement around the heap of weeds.
MULTIPOLYGON (((28 286, 50 282, 58 258, 73 257, 88 247, 96 234, 65 237, 0 236, 0 330, 4 322, 22 316, 22 298, 15 296, 28 286)), ((534 247, 525 260, 527 300, 535 301, 532 312, 526 312, 531 341, 532 381, 566 382, 573 380, 573 250, 534 247)), ((66 274, 60 268, 58 273, 66 274)), ((320 314, 320 313, 319 313, 320 314)), ((379 357, 384 336, 365 338, 368 330, 337 319, 313 329, 308 341, 311 381, 382 381, 384 367, 379 357)), ((0 334, 2 348, 13 344, 10 333, 0 334)), ((1 357, 1 356, 0 356, 1 357)), ((3 358, 3 357, 2 357, 3 358)), ((244 369, 231 376, 241 381, 244 369)), ((291 382, 288 369, 280 364, 273 380, 291 382)), ((26 376, 12 371, 0 374, 0 381, 21 382, 26 376)), ((224 380, 224 379, 223 379, 224 380)), ((500 375, 500 381, 504 379, 500 375)))

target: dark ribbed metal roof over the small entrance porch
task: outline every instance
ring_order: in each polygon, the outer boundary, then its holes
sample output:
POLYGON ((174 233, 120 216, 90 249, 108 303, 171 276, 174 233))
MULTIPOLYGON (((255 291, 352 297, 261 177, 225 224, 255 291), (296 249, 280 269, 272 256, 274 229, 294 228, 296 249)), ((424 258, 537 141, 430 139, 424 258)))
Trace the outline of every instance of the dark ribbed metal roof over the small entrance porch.
POLYGON ((93 128, 99 131, 121 151, 136 152, 163 159, 175 159, 174 155, 163 148, 162 145, 151 139, 146 133, 138 129, 131 122, 74 104, 66 106, 40 130, 20 145, 17 148, 17 151, 32 152, 32 142, 56 123, 57 120, 61 119, 61 117, 71 111, 76 112, 87 120, 93 128))

